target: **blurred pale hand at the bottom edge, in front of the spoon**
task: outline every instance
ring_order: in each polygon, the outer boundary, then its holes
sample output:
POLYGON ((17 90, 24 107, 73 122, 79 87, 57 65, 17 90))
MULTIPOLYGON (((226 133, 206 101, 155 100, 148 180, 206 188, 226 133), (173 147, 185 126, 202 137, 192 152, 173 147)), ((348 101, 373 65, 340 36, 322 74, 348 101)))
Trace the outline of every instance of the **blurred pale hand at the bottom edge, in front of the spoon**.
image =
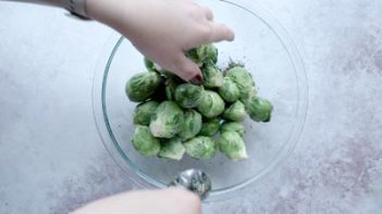
POLYGON ((93 202, 73 214, 200 214, 200 199, 180 188, 121 193, 93 202))

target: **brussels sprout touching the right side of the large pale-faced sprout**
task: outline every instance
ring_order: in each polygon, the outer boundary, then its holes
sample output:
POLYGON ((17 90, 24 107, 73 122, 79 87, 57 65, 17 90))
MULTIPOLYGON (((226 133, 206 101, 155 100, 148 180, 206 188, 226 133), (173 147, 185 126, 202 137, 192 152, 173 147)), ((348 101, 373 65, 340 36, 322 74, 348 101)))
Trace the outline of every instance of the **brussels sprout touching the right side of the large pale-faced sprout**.
POLYGON ((183 140, 188 140, 200 131, 201 115, 195 110, 188 110, 184 113, 182 129, 177 134, 183 140))

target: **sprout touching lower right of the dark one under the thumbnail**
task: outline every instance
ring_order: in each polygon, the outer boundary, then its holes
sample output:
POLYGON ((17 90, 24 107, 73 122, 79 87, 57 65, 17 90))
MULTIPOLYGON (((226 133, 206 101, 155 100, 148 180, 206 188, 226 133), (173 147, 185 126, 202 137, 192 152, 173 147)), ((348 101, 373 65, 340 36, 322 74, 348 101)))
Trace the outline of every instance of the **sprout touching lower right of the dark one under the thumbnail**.
POLYGON ((202 100, 197 110, 207 118, 219 116, 225 108, 223 99, 214 91, 205 90, 202 100))

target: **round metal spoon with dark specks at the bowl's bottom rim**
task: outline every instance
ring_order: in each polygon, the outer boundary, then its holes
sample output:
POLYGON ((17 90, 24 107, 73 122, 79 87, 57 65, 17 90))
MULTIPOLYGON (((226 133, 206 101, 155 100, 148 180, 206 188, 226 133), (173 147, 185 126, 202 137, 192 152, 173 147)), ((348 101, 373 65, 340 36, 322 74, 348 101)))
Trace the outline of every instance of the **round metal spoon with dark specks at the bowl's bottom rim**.
POLYGON ((198 194, 201 200, 208 197, 211 191, 211 179, 208 175, 199 169, 190 168, 180 173, 169 186, 184 187, 189 191, 198 194))

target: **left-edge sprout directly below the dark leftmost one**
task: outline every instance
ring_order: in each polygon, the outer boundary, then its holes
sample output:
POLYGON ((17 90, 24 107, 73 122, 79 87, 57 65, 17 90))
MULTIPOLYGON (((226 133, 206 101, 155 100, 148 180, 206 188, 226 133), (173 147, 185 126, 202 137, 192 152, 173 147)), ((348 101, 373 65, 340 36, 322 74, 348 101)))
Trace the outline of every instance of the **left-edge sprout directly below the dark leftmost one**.
POLYGON ((158 108, 159 103, 156 101, 146 101, 138 104, 133 113, 133 122, 136 125, 148 126, 150 124, 151 115, 158 108))

